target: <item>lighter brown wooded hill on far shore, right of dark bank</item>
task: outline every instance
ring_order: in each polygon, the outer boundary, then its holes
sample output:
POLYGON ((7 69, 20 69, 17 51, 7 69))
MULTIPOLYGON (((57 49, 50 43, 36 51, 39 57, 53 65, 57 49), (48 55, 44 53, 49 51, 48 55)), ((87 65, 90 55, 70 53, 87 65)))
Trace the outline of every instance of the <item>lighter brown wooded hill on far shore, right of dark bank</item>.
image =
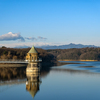
POLYGON ((100 60, 100 48, 55 49, 47 52, 55 55, 58 60, 100 60))

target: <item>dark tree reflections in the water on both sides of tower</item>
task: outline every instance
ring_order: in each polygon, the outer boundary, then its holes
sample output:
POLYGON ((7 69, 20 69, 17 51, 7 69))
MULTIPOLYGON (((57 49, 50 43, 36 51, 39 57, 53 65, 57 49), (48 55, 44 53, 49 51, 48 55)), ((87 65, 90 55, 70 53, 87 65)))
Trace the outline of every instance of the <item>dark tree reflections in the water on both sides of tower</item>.
MULTIPOLYGON (((58 64, 43 64, 40 70, 40 76, 45 77, 51 70, 52 66, 58 64)), ((0 80, 13 80, 26 78, 26 67, 0 67, 0 80)))

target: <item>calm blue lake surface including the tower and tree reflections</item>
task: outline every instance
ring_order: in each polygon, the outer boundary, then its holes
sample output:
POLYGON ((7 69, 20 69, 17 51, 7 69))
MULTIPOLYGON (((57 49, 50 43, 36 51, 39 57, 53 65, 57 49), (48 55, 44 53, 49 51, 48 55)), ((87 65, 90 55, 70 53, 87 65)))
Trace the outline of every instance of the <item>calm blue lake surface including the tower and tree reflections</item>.
POLYGON ((35 76, 26 75, 25 68, 0 68, 0 100, 100 100, 100 62, 65 62, 76 64, 53 66, 35 76))

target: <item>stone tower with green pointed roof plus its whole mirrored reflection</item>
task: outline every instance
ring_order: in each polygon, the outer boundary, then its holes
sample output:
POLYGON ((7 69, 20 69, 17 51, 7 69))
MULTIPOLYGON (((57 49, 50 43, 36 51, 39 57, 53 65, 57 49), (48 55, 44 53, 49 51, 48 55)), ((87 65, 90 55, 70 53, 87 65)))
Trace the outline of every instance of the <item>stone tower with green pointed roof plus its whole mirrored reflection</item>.
POLYGON ((26 55, 26 61, 28 61, 28 66, 26 68, 26 90, 34 98, 35 94, 39 90, 40 81, 40 63, 41 59, 39 59, 39 53, 33 46, 30 51, 26 55))

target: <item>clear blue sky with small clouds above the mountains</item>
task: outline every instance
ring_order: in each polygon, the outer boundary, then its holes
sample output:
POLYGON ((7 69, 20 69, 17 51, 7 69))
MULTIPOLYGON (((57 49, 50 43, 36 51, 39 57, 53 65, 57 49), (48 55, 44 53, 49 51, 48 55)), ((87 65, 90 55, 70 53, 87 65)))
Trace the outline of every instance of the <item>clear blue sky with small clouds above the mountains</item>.
POLYGON ((0 46, 100 46, 99 38, 99 0, 0 0, 0 46))

